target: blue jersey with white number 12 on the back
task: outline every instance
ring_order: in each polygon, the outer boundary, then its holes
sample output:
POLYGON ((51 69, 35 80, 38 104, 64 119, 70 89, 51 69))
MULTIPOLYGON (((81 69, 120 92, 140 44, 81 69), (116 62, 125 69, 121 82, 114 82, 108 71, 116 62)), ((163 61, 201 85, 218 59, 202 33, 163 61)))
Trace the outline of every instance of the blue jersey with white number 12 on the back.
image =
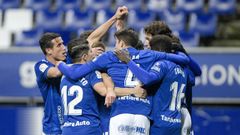
POLYGON ((64 105, 63 135, 102 135, 96 92, 93 90, 99 82, 102 78, 98 71, 79 80, 63 76, 60 86, 64 105))

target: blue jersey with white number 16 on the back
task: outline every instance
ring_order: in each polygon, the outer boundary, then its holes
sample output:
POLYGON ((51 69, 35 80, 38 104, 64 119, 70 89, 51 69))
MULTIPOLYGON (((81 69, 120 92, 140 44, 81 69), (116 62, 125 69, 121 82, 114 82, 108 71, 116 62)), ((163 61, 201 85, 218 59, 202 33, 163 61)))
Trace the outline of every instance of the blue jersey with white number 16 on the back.
POLYGON ((185 70, 173 62, 156 62, 150 70, 158 75, 160 87, 153 98, 152 135, 181 134, 181 104, 187 84, 185 70))

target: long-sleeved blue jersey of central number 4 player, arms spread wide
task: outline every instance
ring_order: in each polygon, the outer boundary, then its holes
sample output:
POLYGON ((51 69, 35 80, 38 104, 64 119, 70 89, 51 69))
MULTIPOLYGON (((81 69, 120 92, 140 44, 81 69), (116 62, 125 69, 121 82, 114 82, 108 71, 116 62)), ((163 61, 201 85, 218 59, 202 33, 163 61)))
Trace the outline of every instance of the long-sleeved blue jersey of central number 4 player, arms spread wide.
MULTIPOLYGON (((172 60, 183 63, 187 63, 189 61, 186 56, 177 56, 174 54, 167 55, 166 53, 151 50, 139 51, 134 48, 128 48, 128 51, 132 60, 146 70, 149 70, 151 65, 153 65, 156 60, 160 59, 172 58, 172 60), (173 56, 171 57, 171 55, 173 56)), ((106 52, 94 59, 92 62, 83 65, 81 68, 71 68, 63 63, 59 64, 58 68, 64 75, 73 80, 76 80, 93 70, 105 70, 108 75, 112 77, 116 87, 134 87, 138 84, 137 79, 128 69, 127 65, 119 61, 113 52, 106 52)), ((150 102, 151 98, 140 99, 131 95, 118 97, 112 105, 111 116, 122 113, 149 116, 151 111, 150 102)))

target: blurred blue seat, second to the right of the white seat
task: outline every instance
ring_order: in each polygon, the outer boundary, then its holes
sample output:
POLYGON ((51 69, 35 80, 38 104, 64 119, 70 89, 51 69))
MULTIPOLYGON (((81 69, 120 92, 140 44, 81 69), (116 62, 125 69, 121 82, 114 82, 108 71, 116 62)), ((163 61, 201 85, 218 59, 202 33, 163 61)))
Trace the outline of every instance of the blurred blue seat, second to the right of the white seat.
POLYGON ((66 29, 76 30, 79 28, 92 27, 94 12, 92 10, 73 9, 66 13, 66 29))

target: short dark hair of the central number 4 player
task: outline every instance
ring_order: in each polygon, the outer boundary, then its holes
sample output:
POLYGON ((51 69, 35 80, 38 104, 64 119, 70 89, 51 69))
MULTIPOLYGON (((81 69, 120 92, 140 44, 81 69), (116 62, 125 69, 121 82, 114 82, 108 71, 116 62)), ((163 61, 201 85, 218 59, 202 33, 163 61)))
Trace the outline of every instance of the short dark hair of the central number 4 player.
POLYGON ((138 43, 138 34, 133 29, 122 29, 115 33, 115 37, 118 40, 124 41, 124 43, 128 46, 135 46, 138 43))

